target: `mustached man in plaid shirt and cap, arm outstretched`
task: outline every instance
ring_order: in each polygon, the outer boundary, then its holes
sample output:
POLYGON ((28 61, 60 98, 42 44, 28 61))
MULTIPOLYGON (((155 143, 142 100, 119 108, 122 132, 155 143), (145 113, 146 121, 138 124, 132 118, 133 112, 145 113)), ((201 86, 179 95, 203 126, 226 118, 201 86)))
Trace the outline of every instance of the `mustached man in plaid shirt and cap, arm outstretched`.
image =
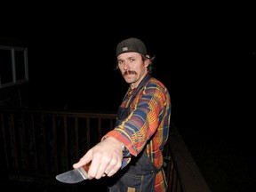
POLYGON ((170 94, 151 76, 155 58, 140 39, 117 44, 116 58, 116 68, 130 85, 118 108, 116 126, 73 167, 91 163, 88 176, 108 176, 109 191, 166 191, 162 151, 170 127, 170 94))

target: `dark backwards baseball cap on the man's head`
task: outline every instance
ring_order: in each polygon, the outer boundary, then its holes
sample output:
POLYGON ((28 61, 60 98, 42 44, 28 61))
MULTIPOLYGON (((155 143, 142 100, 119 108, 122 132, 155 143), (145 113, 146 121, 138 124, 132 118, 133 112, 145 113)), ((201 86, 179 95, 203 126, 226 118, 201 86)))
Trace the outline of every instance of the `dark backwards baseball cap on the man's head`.
POLYGON ((139 52, 143 55, 147 55, 147 49, 145 44, 138 38, 128 38, 117 44, 116 57, 124 52, 139 52))

